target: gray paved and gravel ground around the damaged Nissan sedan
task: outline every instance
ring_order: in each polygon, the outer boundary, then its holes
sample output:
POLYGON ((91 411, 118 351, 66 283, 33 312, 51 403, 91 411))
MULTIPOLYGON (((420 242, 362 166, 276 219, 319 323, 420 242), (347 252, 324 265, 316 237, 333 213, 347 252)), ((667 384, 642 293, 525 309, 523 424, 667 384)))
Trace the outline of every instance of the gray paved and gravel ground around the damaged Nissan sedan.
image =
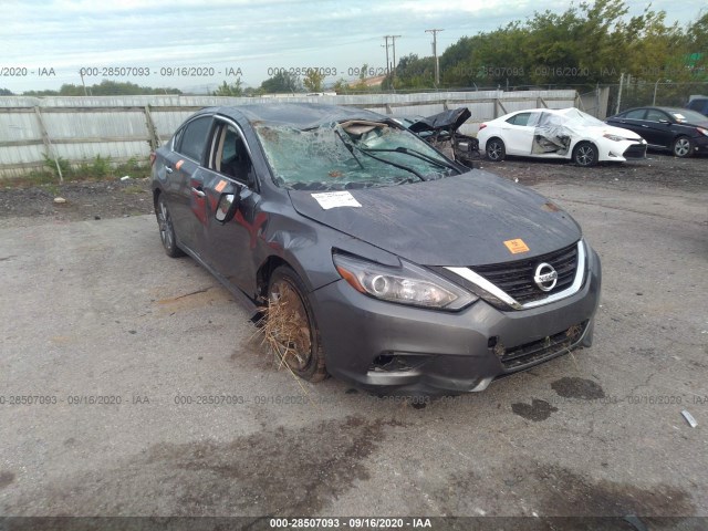
POLYGON ((0 514, 704 530, 706 164, 482 162, 558 201, 601 254, 595 343, 425 408, 278 371, 232 295, 194 260, 165 256, 154 216, 133 216, 150 210, 137 189, 147 181, 0 189, 0 514), (19 400, 35 395, 44 403, 19 400), (616 518, 554 520, 577 516, 616 518))

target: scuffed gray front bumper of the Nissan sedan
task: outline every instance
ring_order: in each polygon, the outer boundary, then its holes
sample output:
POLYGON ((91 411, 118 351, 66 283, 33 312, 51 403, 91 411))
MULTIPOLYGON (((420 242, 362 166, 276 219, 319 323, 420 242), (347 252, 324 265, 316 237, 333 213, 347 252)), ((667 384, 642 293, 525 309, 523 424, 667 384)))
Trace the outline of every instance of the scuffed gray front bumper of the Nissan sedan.
POLYGON ((327 371, 376 393, 459 394, 590 346, 602 273, 587 249, 579 292, 521 311, 483 300, 456 313, 409 308, 366 296, 343 280, 315 290, 327 371))

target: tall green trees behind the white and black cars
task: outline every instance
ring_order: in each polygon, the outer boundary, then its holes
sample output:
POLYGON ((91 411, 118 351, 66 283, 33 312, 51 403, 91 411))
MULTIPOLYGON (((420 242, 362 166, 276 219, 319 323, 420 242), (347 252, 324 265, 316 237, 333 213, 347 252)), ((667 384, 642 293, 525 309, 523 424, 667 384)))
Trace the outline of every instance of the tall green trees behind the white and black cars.
POLYGON ((440 58, 442 85, 582 88, 617 83, 622 73, 646 82, 685 80, 695 70, 686 67, 687 58, 706 49, 708 17, 684 31, 650 6, 628 20, 627 12, 624 0, 583 1, 464 37, 440 58))

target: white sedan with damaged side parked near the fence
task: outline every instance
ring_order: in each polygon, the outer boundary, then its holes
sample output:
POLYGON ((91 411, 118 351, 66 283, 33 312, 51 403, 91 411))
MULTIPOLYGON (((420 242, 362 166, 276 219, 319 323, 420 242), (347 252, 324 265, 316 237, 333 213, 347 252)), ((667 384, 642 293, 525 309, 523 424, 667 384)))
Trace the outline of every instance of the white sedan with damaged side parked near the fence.
POLYGON ((479 126, 480 152, 493 162, 507 155, 565 158, 579 166, 645 158, 646 142, 575 107, 532 108, 506 114, 479 126))

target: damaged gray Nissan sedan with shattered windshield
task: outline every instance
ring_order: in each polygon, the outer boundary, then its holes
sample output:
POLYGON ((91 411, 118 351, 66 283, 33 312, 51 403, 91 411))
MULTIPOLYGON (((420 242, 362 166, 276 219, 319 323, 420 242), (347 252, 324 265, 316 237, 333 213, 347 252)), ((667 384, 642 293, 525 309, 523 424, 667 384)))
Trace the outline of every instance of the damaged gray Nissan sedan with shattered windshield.
POLYGON ((601 267, 571 216, 357 108, 206 108, 153 157, 159 233, 300 377, 458 394, 590 346, 601 267))

